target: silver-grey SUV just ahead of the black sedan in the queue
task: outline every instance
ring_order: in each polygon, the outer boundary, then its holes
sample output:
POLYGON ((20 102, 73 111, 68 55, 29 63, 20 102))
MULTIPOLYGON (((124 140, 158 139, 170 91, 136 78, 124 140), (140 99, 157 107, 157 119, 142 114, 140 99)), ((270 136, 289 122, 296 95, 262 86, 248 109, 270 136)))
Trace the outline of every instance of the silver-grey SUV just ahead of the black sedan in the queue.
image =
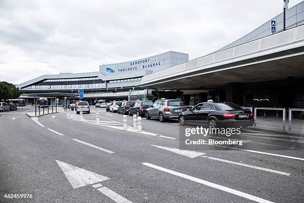
POLYGON ((178 118, 179 113, 185 110, 185 104, 180 100, 157 100, 146 109, 146 118, 156 117, 165 122, 166 119, 178 118))

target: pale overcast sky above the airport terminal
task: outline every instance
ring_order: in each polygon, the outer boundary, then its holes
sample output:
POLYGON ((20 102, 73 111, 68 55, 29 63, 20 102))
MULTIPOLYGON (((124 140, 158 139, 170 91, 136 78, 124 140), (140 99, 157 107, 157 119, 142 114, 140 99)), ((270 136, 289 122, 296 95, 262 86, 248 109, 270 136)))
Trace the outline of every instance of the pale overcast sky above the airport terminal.
POLYGON ((283 0, 0 0, 0 81, 93 72, 169 50, 198 58, 282 10, 283 0))

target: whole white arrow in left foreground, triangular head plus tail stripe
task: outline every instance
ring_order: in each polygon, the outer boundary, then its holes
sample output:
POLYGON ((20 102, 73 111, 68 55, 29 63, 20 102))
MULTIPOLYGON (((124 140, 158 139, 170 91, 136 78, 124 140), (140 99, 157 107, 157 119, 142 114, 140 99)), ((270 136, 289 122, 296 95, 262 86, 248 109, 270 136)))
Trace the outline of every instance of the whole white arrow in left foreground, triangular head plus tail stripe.
POLYGON ((91 171, 87 171, 85 169, 78 168, 62 161, 56 160, 56 162, 74 189, 94 184, 92 185, 93 188, 96 188, 99 192, 111 198, 116 203, 132 203, 126 198, 118 195, 106 187, 103 187, 100 183, 98 183, 101 181, 109 180, 110 178, 93 173, 91 171))

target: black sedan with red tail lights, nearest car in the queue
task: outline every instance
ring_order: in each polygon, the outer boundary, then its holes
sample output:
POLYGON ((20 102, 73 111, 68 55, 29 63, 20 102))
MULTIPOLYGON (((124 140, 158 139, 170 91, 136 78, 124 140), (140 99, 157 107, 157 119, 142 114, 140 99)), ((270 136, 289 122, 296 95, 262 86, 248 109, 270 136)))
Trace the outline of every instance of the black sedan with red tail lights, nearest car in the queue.
POLYGON ((217 127, 247 127, 254 123, 253 114, 231 102, 203 102, 178 116, 181 125, 192 123, 217 127))

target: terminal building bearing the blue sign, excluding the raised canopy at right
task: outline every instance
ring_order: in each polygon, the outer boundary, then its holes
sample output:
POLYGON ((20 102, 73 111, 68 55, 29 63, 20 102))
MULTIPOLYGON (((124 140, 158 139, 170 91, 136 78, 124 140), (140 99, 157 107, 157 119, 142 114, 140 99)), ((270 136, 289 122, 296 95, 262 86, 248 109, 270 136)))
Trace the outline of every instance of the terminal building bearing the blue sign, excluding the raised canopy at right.
POLYGON ((168 51, 123 63, 100 65, 97 72, 43 75, 17 87, 21 91, 20 98, 28 102, 32 102, 34 97, 50 98, 51 103, 55 102, 55 98, 59 98, 60 103, 65 97, 78 100, 80 89, 84 90, 84 100, 90 103, 99 99, 128 99, 130 90, 144 90, 140 88, 143 76, 188 60, 186 53, 168 51))

